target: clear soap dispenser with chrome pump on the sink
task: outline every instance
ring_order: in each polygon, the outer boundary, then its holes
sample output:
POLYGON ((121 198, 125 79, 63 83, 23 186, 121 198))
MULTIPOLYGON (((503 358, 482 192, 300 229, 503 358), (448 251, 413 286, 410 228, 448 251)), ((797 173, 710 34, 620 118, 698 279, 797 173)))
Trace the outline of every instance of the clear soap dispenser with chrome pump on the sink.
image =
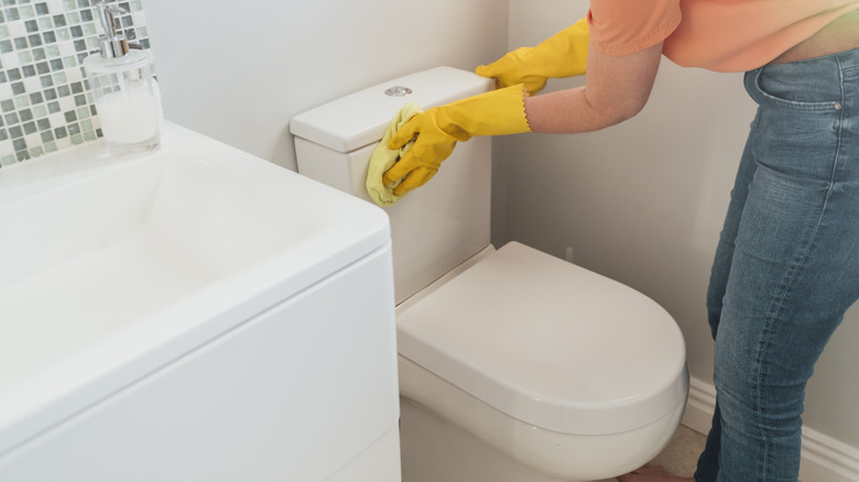
POLYGON ((104 28, 100 52, 84 59, 95 96, 101 134, 112 155, 153 151, 161 144, 161 103, 152 78, 152 54, 129 50, 117 32, 117 17, 126 13, 112 3, 96 3, 104 28))

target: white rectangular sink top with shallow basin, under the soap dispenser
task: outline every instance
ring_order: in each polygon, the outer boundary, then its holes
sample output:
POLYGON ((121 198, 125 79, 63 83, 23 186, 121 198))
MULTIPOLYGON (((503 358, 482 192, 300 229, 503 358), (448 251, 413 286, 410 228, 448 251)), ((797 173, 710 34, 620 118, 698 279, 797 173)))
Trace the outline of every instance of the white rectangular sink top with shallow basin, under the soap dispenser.
MULTIPOLYGON (((376 252, 390 263, 381 210, 211 139, 170 124, 154 154, 101 149, 0 169, 0 474, 135 381, 376 252)), ((382 337, 385 277, 366 281, 382 337)))

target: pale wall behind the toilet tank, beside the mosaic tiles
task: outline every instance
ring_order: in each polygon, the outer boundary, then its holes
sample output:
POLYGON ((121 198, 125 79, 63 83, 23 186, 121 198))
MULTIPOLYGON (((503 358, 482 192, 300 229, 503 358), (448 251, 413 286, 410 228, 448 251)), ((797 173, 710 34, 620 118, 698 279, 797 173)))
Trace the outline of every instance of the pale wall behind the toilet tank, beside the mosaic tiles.
POLYGON ((168 120, 295 169, 293 116, 438 65, 503 54, 498 0, 145 0, 168 120))

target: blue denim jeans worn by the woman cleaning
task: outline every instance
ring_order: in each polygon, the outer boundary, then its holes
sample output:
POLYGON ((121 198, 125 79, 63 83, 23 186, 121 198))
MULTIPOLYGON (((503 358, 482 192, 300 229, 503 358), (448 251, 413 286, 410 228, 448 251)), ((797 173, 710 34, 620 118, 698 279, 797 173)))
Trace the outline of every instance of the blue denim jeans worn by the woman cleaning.
POLYGON ((805 385, 859 298, 859 48, 746 74, 759 109, 707 308, 716 414, 698 482, 795 482, 805 385))

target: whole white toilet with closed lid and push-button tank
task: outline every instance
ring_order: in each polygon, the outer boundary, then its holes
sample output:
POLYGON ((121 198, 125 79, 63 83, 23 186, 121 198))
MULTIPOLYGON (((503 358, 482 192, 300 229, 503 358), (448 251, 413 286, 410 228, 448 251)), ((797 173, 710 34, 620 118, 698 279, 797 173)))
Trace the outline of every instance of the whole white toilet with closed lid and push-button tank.
MULTIPOLYGON (((431 108, 492 87, 438 67, 297 116, 298 171, 369 200, 370 154, 406 101, 431 108)), ((494 250, 490 156, 488 138, 460 143, 385 208, 403 480, 595 481, 635 469, 683 417, 681 331, 628 286, 515 242, 494 250)))

